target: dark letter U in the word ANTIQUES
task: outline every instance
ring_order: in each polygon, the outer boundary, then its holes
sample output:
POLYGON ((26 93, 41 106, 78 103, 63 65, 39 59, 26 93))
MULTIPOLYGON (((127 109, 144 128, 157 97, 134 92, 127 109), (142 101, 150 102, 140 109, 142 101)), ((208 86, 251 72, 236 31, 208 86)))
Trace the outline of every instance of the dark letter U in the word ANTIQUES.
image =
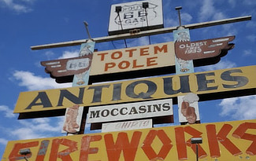
POLYGON ((164 92, 165 94, 172 95, 176 93, 190 93, 189 75, 180 76, 180 89, 173 90, 173 77, 164 78, 164 92))

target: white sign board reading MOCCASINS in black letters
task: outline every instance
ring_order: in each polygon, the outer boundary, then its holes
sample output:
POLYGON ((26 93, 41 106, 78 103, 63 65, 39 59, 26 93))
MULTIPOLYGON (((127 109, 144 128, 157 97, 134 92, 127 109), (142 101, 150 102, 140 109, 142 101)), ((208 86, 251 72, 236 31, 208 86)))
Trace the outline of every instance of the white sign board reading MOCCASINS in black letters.
POLYGON ((113 104, 89 108, 87 123, 143 119, 173 115, 173 100, 143 101, 131 104, 113 104))

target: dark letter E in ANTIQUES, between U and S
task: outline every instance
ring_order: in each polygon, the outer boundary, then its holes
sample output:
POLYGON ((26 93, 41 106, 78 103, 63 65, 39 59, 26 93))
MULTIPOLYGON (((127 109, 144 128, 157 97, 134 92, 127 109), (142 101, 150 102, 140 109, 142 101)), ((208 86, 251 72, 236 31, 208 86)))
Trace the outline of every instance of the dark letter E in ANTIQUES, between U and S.
POLYGON ((210 79, 210 80, 206 79, 206 76, 210 76, 210 75, 215 75, 215 73, 210 72, 210 73, 202 73, 202 74, 195 75, 198 81, 198 91, 217 90, 217 86, 210 86, 210 87, 207 86, 208 83, 215 82, 214 79, 210 79))

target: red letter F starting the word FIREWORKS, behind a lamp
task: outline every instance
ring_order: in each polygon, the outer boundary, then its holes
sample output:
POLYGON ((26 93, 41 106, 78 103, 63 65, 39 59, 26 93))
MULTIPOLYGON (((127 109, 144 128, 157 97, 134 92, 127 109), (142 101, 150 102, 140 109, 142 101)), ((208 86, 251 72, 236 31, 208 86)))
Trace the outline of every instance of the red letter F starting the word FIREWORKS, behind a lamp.
MULTIPOLYGON (((17 143, 14 145, 12 152, 9 153, 9 161, 15 161, 24 159, 24 155, 20 155, 20 149, 22 148, 31 148, 31 147, 36 147, 39 145, 39 141, 32 141, 28 143, 17 143)), ((27 158, 30 158, 32 156, 32 153, 26 155, 27 158)))

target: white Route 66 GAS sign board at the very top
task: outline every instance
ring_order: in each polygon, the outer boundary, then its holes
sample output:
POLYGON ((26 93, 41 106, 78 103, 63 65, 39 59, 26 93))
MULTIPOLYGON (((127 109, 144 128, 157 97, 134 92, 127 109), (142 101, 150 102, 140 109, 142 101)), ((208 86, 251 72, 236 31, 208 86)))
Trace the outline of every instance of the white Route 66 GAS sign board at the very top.
POLYGON ((161 0, 147 0, 111 5, 109 35, 127 33, 132 29, 150 30, 163 26, 161 0), (147 3, 143 8, 143 3, 147 3), (119 16, 118 16, 119 15, 119 16))

